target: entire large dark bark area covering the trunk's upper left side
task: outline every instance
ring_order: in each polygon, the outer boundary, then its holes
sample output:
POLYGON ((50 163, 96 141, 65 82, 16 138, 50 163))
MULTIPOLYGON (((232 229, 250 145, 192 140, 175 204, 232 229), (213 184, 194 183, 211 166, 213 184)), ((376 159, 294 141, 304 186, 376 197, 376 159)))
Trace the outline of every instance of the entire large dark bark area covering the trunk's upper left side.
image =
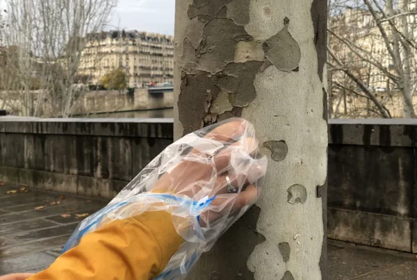
POLYGON ((253 42, 245 31, 244 25, 250 21, 249 4, 250 0, 194 0, 188 6, 191 22, 183 39, 183 83, 178 101, 183 133, 240 116, 241 108, 256 98, 254 79, 265 55, 261 42, 253 42), (213 92, 204 92, 206 85, 197 84, 203 73, 207 74, 203 83, 208 83, 207 78, 214 83, 213 92), (200 96, 203 92, 204 97, 200 96), (188 104, 198 106, 188 108, 188 104), (189 115, 192 120, 184 117, 189 115))

